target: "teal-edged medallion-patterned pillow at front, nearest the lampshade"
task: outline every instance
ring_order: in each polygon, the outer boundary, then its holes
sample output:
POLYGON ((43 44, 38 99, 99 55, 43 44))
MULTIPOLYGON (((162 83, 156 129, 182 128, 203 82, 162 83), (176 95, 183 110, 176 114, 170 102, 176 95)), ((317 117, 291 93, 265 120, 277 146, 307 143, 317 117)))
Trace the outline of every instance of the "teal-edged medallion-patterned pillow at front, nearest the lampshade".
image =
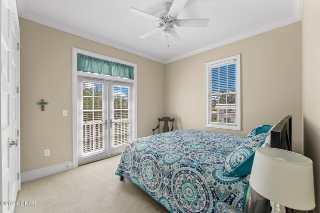
POLYGON ((233 152, 231 152, 223 164, 223 173, 225 176, 244 176, 251 173, 254 153, 256 148, 261 147, 268 134, 247 138, 233 152))

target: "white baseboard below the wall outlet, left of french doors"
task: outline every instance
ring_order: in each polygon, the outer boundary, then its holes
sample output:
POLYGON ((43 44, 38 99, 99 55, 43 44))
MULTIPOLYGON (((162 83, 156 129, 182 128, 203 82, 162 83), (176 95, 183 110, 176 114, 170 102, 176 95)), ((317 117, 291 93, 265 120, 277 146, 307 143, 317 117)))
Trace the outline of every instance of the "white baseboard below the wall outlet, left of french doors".
POLYGON ((72 169, 72 161, 21 173, 21 183, 72 169))

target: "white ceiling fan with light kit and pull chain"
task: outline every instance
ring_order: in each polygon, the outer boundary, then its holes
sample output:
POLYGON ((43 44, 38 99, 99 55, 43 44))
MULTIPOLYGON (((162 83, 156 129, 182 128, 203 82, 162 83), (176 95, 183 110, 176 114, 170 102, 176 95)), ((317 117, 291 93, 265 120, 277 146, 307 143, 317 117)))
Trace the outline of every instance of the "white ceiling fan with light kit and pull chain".
POLYGON ((151 29, 150 31, 140 35, 139 38, 146 38, 156 32, 160 32, 160 37, 168 41, 169 40, 175 44, 180 41, 179 35, 177 34, 174 27, 206 27, 209 19, 177 19, 178 14, 182 10, 183 6, 188 0, 174 0, 171 4, 170 2, 166 2, 163 4, 164 12, 162 12, 159 17, 156 15, 152 15, 150 13, 141 11, 136 8, 130 8, 129 11, 135 14, 141 15, 143 17, 155 20, 158 22, 158 26, 151 29))

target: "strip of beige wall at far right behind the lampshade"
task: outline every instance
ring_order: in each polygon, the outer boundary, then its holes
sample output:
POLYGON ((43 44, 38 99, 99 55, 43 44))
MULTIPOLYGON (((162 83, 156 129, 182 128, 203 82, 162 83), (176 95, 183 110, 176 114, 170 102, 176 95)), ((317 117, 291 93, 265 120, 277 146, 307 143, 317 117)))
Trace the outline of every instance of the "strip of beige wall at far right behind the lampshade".
POLYGON ((304 155, 313 161, 316 213, 320 212, 320 1, 302 6, 302 113, 304 155))

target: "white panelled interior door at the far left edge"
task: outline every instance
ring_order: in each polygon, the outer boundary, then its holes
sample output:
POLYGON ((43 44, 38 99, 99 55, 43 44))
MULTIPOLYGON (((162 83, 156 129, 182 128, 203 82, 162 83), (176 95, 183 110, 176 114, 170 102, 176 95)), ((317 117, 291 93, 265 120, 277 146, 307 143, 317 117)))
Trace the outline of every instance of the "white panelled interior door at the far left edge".
POLYGON ((13 212, 19 181, 19 25, 14 0, 1 0, 1 160, 2 212, 13 212), (11 203, 12 204, 12 203, 11 203))

